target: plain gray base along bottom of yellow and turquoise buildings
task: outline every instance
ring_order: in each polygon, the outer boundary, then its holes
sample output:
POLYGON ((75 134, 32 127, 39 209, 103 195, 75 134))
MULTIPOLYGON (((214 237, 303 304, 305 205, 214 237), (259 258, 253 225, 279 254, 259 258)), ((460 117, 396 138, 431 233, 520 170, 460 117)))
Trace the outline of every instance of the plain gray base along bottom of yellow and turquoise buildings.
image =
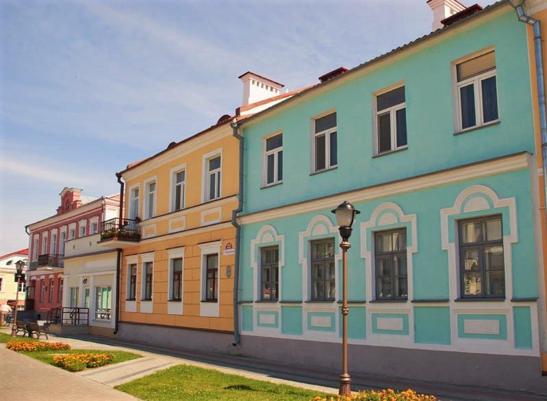
MULTIPOLYGON (((121 322, 117 337, 166 348, 236 354, 268 363, 335 372, 336 375, 342 372, 342 344, 242 335, 240 344, 232 346, 233 335, 229 333, 121 322)), ((547 376, 542 376, 539 357, 353 344, 348 346, 348 354, 348 371, 354 376, 533 391, 547 395, 547 376)), ((412 387, 411 383, 409 387, 412 387)))

